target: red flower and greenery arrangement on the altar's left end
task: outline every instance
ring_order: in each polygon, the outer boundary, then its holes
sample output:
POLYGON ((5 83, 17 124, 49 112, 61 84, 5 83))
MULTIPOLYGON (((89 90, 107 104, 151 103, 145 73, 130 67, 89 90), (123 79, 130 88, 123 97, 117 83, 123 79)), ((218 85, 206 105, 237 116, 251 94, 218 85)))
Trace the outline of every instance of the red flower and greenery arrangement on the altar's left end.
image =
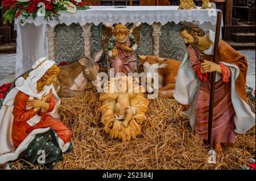
POLYGON ((3 0, 2 8, 7 11, 3 14, 4 23, 13 23, 15 18, 44 16, 46 20, 59 21, 61 10, 74 13, 76 10, 89 9, 90 3, 81 0, 3 0))

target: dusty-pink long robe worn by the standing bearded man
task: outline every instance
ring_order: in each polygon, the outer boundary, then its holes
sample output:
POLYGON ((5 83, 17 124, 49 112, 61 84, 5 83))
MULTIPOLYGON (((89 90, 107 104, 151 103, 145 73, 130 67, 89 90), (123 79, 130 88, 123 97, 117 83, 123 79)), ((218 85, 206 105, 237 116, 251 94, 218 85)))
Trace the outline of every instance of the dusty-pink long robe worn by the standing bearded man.
MULTIPOLYGON (((199 53, 191 46, 188 47, 188 55, 191 60, 191 68, 200 78, 200 87, 196 97, 195 115, 195 135, 201 140, 208 139, 208 113, 209 113, 209 94, 210 79, 208 73, 201 74, 200 64, 203 57, 199 58, 199 53)), ((234 132, 234 108, 231 100, 231 81, 232 75, 228 66, 219 63, 222 69, 221 79, 215 84, 214 110, 212 122, 212 141, 234 143, 236 133, 234 132)))

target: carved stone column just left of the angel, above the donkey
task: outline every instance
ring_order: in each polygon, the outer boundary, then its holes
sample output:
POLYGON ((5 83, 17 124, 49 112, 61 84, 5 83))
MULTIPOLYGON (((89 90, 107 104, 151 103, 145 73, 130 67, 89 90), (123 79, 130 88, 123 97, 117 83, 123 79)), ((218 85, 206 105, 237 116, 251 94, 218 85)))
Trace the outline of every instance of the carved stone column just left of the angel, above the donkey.
POLYGON ((82 37, 84 37, 84 56, 90 57, 90 45, 92 44, 92 29, 93 23, 87 23, 82 26, 82 37))

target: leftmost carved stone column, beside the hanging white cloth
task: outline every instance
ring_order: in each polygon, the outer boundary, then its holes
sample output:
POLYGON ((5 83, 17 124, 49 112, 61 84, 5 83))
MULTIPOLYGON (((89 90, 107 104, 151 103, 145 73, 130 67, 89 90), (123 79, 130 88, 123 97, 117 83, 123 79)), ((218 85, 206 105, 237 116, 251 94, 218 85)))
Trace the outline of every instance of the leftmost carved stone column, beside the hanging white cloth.
POLYGON ((48 37, 48 58, 55 61, 55 27, 51 27, 47 24, 46 36, 48 37))

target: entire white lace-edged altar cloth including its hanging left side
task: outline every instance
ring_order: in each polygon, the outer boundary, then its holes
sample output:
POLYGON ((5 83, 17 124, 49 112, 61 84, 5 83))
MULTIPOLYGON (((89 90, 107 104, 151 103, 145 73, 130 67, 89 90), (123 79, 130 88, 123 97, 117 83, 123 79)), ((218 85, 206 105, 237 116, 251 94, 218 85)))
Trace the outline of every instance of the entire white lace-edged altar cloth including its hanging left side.
POLYGON ((162 25, 168 22, 196 21, 203 29, 215 31, 218 10, 177 10, 177 6, 126 6, 118 8, 114 6, 92 6, 88 10, 78 10, 75 14, 66 11, 60 12, 59 20, 46 21, 43 16, 36 19, 20 16, 15 19, 17 31, 16 49, 16 77, 31 69, 32 64, 42 56, 47 57, 46 24, 53 27, 59 23, 69 26, 79 23, 94 23, 96 26, 101 22, 135 23, 142 22, 153 24, 160 22, 162 25), (20 22, 23 22, 22 24, 20 22))

